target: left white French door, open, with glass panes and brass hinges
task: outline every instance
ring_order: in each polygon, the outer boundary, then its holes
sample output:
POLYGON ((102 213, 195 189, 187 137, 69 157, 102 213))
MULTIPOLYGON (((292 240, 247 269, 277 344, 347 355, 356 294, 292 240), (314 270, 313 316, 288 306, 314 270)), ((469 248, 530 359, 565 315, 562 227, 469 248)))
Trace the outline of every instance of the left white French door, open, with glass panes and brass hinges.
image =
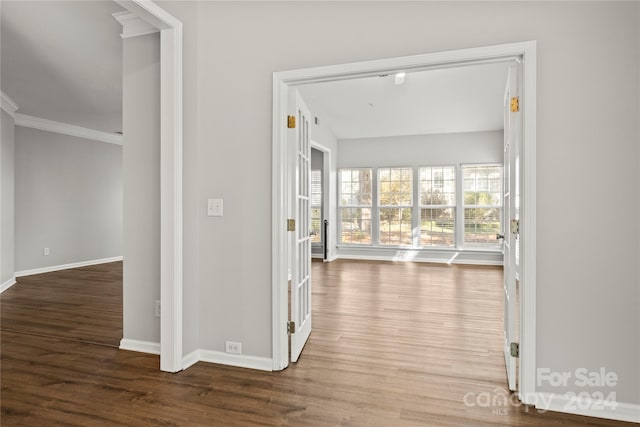
POLYGON ((291 361, 297 362, 311 334, 311 138, 309 109, 296 90, 295 143, 291 155, 295 159, 295 190, 291 262, 291 361))

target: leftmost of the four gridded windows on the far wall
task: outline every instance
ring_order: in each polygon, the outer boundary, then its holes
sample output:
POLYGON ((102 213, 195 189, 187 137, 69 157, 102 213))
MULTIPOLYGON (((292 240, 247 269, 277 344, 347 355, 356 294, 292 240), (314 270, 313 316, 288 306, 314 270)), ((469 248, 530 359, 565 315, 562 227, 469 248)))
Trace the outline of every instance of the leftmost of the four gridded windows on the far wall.
POLYGON ((371 244, 371 169, 341 169, 339 236, 343 244, 371 244))

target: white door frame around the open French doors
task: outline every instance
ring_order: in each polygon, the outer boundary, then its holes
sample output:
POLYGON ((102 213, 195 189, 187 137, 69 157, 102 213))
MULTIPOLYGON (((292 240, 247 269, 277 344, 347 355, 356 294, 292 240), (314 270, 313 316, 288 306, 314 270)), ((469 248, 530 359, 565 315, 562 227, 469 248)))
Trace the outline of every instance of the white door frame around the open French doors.
POLYGON ((272 152, 272 357, 273 369, 288 364, 287 340, 287 95, 290 87, 305 83, 345 80, 418 69, 454 67, 521 58, 523 119, 520 284, 519 397, 535 404, 536 379, 536 42, 509 43, 424 55, 380 59, 342 65, 276 72, 273 74, 272 152))

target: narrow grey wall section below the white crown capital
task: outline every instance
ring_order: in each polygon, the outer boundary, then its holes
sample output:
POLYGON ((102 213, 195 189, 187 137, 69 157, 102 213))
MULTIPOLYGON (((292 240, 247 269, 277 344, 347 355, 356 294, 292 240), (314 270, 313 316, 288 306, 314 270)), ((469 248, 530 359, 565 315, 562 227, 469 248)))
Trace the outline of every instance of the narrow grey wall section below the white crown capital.
POLYGON ((160 342, 160 35, 123 39, 123 338, 160 342))

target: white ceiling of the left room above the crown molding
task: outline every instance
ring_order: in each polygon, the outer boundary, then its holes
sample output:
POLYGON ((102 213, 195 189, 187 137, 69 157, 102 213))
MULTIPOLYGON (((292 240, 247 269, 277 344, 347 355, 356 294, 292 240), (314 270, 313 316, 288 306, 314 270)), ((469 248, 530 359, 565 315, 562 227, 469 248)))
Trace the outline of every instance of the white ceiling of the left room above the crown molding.
POLYGON ((112 1, 2 1, 2 91, 18 112, 122 130, 122 27, 112 1))

